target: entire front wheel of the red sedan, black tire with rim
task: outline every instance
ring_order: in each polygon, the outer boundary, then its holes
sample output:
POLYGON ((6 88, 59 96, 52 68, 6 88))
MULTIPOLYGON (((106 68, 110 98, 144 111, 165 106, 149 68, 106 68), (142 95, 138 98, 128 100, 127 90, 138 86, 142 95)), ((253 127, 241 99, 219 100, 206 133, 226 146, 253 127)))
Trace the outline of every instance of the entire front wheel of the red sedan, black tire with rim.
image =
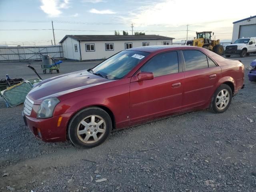
POLYGON ((92 148, 102 144, 111 130, 112 122, 108 113, 101 108, 90 107, 72 117, 68 124, 68 138, 74 146, 92 148))

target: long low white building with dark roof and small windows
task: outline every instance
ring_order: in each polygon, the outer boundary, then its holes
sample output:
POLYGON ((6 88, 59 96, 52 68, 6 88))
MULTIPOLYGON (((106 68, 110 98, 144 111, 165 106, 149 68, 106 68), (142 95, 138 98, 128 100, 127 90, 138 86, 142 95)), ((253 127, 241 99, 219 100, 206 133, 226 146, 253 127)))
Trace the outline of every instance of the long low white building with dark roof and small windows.
POLYGON ((133 47, 171 45, 174 38, 159 35, 66 35, 60 43, 64 57, 73 60, 98 60, 133 47))

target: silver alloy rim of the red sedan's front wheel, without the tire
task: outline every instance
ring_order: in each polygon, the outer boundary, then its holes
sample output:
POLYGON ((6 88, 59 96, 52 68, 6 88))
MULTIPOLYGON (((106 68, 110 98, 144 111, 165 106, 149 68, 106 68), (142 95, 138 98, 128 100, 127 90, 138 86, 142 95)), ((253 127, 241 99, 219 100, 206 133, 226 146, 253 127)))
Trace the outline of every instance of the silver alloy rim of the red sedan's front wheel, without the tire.
POLYGON ((100 140, 106 132, 106 122, 101 116, 90 115, 80 121, 76 134, 80 141, 92 144, 100 140))

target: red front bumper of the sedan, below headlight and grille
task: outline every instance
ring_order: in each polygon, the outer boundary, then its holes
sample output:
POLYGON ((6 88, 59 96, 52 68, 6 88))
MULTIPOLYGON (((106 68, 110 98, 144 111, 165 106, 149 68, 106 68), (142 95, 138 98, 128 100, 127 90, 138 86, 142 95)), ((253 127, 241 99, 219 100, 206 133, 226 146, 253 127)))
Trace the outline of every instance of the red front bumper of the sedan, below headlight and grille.
POLYGON ((25 125, 34 136, 44 142, 66 141, 66 128, 72 112, 46 119, 25 116, 22 112, 25 125))

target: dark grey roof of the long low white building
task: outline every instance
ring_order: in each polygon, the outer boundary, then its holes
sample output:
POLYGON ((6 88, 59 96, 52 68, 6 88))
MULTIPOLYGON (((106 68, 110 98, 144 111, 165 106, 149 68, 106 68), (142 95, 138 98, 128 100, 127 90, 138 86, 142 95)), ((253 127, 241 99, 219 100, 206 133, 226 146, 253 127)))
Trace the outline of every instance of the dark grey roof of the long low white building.
POLYGON ((170 40, 172 37, 160 35, 66 35, 60 43, 67 37, 78 41, 121 41, 121 40, 170 40))

